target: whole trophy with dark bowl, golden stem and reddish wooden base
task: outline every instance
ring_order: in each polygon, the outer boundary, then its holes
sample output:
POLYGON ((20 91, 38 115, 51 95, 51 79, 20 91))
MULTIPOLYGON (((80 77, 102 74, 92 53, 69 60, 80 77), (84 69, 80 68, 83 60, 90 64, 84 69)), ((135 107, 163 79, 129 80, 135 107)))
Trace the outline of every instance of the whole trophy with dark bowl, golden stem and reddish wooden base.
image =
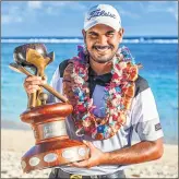
MULTIPOLYGON (((15 62, 9 65, 12 70, 41 79, 46 79, 45 69, 55 60, 55 52, 47 53, 44 44, 19 46, 13 55, 15 62)), ((72 110, 73 107, 68 99, 48 84, 41 84, 39 91, 28 96, 27 110, 21 114, 20 118, 31 124, 36 142, 22 157, 24 172, 88 158, 88 147, 68 136, 64 120, 72 110), (61 103, 46 104, 48 95, 43 88, 61 103)))

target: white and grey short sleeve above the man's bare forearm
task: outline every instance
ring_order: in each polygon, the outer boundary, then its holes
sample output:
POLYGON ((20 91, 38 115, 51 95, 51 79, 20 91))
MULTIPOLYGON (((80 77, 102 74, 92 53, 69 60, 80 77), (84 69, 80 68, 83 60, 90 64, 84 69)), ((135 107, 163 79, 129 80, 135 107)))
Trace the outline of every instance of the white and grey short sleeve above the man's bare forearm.
POLYGON ((131 112, 133 129, 141 141, 155 141, 164 136, 154 95, 150 87, 135 96, 131 112))

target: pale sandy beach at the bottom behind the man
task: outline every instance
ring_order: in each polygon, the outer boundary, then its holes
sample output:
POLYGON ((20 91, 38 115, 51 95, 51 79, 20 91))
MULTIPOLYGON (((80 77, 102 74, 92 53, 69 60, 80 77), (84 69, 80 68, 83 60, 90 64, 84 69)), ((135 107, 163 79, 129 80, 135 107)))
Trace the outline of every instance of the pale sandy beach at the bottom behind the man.
MULTIPOLYGON (((48 178, 50 168, 23 174, 21 157, 35 144, 32 130, 1 129, 1 178, 48 178)), ((128 178, 178 178, 178 145, 164 145, 160 159, 131 165, 128 178)))

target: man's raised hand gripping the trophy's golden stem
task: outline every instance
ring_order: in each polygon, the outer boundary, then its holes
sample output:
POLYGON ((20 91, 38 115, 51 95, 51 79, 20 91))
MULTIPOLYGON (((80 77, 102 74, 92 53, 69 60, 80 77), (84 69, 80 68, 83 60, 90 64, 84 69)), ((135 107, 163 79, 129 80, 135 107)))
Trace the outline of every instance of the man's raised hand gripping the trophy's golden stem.
POLYGON ((47 83, 45 80, 41 80, 40 76, 27 76, 24 81, 24 88, 27 94, 35 93, 40 90, 39 85, 47 83))

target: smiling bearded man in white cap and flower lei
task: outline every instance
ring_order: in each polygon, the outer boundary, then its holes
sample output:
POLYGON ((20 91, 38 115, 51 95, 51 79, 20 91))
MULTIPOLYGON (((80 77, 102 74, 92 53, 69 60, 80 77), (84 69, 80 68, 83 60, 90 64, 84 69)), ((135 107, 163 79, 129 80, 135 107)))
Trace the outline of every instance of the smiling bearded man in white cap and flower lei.
MULTIPOLYGON (((138 65, 128 61, 132 60, 130 52, 118 49, 123 32, 114 7, 91 8, 82 31, 86 49, 80 49, 79 57, 63 61, 56 70, 51 85, 63 92, 75 109, 74 120, 69 117, 65 121, 68 134, 83 141, 91 156, 52 169, 50 178, 124 178, 128 165, 162 157, 163 131, 154 96, 147 82, 138 75, 138 65), (133 71, 127 73, 128 68, 133 71), (124 74, 134 75, 129 80, 124 74), (141 142, 131 146, 133 131, 141 142)), ((24 87, 31 94, 40 83, 39 77, 29 76, 24 87)), ((58 102, 52 96, 49 100, 58 102)))

